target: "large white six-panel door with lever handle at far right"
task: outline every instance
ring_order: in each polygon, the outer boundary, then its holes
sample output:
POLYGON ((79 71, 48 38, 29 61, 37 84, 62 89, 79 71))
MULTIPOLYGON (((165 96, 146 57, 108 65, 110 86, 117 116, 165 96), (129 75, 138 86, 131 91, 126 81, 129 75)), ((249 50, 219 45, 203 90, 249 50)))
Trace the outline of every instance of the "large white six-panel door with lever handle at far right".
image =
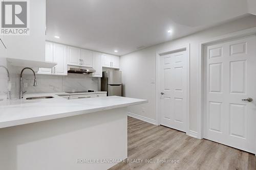
POLYGON ((204 138, 255 153, 256 37, 204 48, 204 138))

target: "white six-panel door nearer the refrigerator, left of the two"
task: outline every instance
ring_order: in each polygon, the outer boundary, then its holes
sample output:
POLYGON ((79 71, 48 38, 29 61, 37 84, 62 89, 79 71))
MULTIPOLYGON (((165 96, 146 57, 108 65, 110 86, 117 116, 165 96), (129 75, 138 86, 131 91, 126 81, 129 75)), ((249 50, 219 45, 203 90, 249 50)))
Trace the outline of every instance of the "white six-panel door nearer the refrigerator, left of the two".
POLYGON ((161 56, 160 124, 186 131, 187 53, 161 56))

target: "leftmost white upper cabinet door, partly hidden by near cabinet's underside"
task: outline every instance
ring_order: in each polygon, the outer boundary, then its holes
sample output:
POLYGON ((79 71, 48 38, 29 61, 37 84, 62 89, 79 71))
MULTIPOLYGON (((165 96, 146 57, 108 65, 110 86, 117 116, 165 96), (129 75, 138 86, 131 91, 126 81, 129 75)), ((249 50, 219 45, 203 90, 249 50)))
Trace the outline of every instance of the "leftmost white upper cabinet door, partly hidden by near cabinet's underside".
MULTIPOLYGON (((53 43, 46 41, 46 61, 53 62, 53 43)), ((53 68, 38 68, 37 74, 51 75, 53 68)))

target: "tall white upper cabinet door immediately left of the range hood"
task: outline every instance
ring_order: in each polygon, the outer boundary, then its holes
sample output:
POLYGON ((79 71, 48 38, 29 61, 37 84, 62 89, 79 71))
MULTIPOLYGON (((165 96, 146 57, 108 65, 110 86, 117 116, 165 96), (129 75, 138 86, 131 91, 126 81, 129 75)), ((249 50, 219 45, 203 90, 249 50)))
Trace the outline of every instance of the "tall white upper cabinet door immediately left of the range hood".
POLYGON ((67 46, 53 44, 53 62, 58 63, 53 70, 54 75, 68 75, 68 65, 66 61, 67 46))

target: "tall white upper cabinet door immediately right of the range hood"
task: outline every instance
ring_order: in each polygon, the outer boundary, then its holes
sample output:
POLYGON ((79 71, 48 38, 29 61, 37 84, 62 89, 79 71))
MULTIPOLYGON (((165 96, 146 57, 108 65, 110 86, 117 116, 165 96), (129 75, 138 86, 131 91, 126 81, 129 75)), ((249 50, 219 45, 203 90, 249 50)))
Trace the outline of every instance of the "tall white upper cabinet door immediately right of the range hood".
POLYGON ((93 55, 93 69, 96 71, 92 73, 92 77, 102 77, 102 54, 94 52, 93 55))

